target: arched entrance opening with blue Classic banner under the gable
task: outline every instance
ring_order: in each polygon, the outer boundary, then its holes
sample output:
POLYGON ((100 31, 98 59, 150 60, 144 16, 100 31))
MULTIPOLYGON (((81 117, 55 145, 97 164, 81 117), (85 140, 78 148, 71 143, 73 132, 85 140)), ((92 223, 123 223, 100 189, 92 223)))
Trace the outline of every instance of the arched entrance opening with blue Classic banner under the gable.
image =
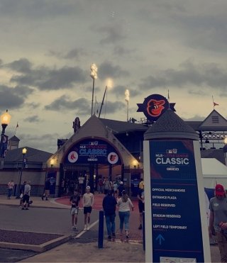
POLYGON ((83 138, 66 152, 60 164, 59 195, 81 194, 87 185, 97 189, 99 179, 113 181, 123 177, 122 157, 118 149, 103 138, 83 138))

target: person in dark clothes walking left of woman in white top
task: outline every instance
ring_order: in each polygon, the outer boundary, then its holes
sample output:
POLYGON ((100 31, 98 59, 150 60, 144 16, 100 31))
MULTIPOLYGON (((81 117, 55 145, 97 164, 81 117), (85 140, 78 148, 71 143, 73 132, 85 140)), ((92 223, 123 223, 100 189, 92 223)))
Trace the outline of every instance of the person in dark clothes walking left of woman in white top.
POLYGON ((108 240, 111 240, 111 237, 115 239, 116 198, 114 198, 111 190, 104 197, 102 207, 104 208, 108 240))

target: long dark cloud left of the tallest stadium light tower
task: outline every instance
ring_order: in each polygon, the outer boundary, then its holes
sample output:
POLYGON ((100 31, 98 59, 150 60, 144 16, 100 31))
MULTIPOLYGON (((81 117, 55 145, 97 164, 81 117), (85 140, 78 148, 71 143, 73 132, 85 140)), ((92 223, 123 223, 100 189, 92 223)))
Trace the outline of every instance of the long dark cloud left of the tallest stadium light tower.
MULTIPOLYGON (((12 62, 12 69, 21 72, 21 64, 25 62, 12 62), (16 66, 15 66, 16 65, 16 66)), ((23 67, 25 69, 25 67, 23 67)), ((36 69, 29 69, 29 72, 23 72, 21 75, 13 75, 11 82, 16 82, 20 85, 35 86, 40 90, 55 90, 67 89, 74 84, 86 82, 89 79, 87 72, 79 67, 62 67, 60 69, 50 69, 48 67, 37 67, 36 69)))

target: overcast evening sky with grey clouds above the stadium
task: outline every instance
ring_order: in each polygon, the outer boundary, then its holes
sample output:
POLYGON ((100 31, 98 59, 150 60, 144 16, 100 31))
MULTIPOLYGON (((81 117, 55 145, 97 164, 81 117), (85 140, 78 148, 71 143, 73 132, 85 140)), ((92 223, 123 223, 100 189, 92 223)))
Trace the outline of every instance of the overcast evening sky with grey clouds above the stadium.
POLYGON ((150 94, 175 102, 184 120, 227 117, 226 0, 0 0, 0 113, 20 146, 57 150, 72 121, 91 116, 113 79, 102 118, 140 121, 150 94))

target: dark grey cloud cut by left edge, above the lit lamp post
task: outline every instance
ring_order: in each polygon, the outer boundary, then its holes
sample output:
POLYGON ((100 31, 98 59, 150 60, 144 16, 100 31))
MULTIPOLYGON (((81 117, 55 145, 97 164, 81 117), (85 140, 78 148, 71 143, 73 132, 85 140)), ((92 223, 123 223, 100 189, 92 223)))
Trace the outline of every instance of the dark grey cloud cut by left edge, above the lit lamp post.
POLYGON ((20 108, 26 101, 28 95, 33 93, 33 89, 28 86, 9 86, 0 85, 0 108, 20 108))

